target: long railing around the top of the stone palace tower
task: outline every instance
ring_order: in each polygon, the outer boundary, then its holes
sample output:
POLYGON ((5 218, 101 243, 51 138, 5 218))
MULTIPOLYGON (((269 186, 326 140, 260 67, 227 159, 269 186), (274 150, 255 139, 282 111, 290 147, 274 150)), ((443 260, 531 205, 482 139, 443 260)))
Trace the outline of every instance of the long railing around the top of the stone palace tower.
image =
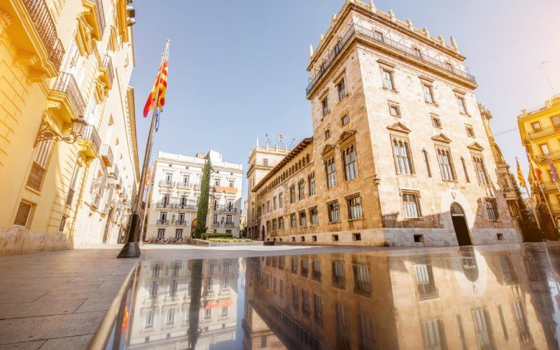
POLYGON ((357 35, 367 36, 367 38, 370 39, 370 40, 376 41, 377 43, 379 43, 383 46, 386 46, 388 48, 391 48, 393 50, 397 50, 401 55, 404 54, 407 57, 411 57, 411 58, 413 57, 415 59, 420 59, 423 63, 427 63, 431 66, 435 66, 438 69, 444 69, 445 71, 448 71, 449 73, 452 73, 452 74, 454 74, 456 76, 459 76, 461 78, 464 78, 466 80, 470 80, 472 83, 476 83, 475 77, 472 76, 471 74, 465 72, 465 71, 461 71, 461 70, 456 69, 452 66, 448 66, 444 62, 441 62, 438 59, 429 57, 428 55, 424 55, 422 53, 416 52, 412 48, 409 48, 408 46, 403 45, 402 43, 398 43, 396 41, 393 41, 390 38, 387 38, 386 36, 377 37, 377 36, 374 35, 374 32, 371 31, 370 29, 366 29, 364 27, 361 27, 360 25, 355 24, 355 25, 352 25, 350 27, 350 29, 348 29, 348 31, 346 31, 346 34, 344 34, 344 36, 342 36, 342 39, 339 41, 339 43, 337 43, 337 45, 335 45, 335 47, 332 49, 332 52, 330 52, 330 55, 328 55, 328 57, 325 59, 323 64, 321 64, 321 67, 319 68, 319 70, 309 80, 309 85, 307 86, 307 89, 305 89, 306 94, 309 94, 311 89, 313 89, 313 87, 316 85, 316 83, 318 83, 318 80, 321 79, 321 77, 323 76, 325 71, 327 71, 330 64, 332 64, 332 62, 334 62, 335 58, 338 55, 340 55, 340 52, 342 52, 342 48, 344 47, 344 45, 346 45, 346 43, 348 43, 350 41, 353 34, 356 34, 356 36, 357 35))

